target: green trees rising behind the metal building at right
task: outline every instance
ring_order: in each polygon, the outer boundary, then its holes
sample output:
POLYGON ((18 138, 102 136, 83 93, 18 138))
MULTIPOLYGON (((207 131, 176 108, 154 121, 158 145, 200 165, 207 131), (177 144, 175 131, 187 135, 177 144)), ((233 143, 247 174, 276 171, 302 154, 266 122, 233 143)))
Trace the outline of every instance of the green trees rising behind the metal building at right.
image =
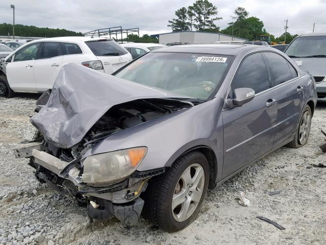
MULTIPOLYGON (((232 21, 228 26, 220 30, 214 21, 222 19, 218 16, 218 7, 214 6, 208 0, 197 0, 193 5, 182 7, 175 11, 176 18, 169 20, 168 27, 173 32, 178 31, 205 31, 205 32, 221 32, 230 36, 241 37, 248 40, 259 40, 260 35, 268 34, 264 28, 264 23, 258 17, 249 16, 249 12, 242 7, 237 7, 232 21)), ((292 41, 297 34, 291 35, 286 33, 286 43, 292 41)), ((270 35, 271 41, 284 41, 285 33, 280 37, 270 35)))

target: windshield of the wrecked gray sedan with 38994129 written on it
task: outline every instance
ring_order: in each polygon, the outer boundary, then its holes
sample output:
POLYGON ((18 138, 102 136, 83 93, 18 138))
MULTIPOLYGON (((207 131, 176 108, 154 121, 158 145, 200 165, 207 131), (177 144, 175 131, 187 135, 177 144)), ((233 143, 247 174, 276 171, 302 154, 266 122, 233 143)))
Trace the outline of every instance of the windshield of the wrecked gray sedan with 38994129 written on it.
POLYGON ((148 53, 115 76, 135 83, 206 100, 220 88, 232 56, 148 53))

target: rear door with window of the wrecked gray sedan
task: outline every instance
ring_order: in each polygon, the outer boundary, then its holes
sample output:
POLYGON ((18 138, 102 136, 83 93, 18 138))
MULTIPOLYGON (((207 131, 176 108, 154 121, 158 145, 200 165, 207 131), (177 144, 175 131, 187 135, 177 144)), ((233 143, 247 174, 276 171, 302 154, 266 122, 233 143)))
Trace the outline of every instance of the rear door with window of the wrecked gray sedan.
POLYGON ((278 99, 277 128, 274 145, 288 139, 295 130, 303 108, 304 81, 295 68, 280 54, 264 52, 278 99))

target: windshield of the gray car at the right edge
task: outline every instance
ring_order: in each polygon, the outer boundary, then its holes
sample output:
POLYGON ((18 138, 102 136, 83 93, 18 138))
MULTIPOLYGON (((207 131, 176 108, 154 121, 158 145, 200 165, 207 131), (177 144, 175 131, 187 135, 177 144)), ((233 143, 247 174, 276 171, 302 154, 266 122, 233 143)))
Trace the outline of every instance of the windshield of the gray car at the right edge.
POLYGON ((285 54, 290 57, 326 56, 326 36, 298 37, 285 54))

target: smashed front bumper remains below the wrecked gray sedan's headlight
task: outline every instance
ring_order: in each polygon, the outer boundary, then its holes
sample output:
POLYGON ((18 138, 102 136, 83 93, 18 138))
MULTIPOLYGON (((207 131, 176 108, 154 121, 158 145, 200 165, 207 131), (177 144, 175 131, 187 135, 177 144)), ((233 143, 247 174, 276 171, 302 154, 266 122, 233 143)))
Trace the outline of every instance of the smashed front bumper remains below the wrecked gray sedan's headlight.
MULTIPOLYGON (((164 169, 135 172, 128 179, 105 187, 93 187, 83 183, 81 170, 71 162, 46 153, 43 142, 23 143, 14 150, 16 158, 29 158, 36 169, 35 176, 41 183, 77 201, 88 208, 91 218, 105 220, 117 217, 126 225, 138 222, 144 201, 140 194, 146 189, 150 177, 164 169)), ((75 159, 76 160, 76 159, 75 159)))

